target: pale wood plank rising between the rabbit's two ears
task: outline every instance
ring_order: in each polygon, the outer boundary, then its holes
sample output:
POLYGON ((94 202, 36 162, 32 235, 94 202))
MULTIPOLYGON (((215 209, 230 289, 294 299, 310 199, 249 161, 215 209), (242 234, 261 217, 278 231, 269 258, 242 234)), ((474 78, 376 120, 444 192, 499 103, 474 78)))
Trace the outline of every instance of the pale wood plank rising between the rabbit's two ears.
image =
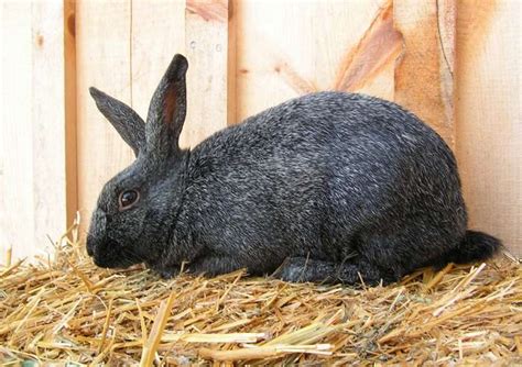
POLYGON ((152 93, 172 57, 185 54, 185 1, 132 0, 131 47, 131 103, 145 120, 152 93))

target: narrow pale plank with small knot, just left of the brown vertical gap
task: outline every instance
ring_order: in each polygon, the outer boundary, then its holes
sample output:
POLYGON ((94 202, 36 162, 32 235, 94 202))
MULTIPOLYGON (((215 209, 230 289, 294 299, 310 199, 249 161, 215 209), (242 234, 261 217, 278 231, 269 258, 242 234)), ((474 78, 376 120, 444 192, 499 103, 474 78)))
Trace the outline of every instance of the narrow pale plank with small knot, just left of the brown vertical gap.
POLYGON ((64 3, 32 3, 34 246, 58 240, 67 223, 64 3))

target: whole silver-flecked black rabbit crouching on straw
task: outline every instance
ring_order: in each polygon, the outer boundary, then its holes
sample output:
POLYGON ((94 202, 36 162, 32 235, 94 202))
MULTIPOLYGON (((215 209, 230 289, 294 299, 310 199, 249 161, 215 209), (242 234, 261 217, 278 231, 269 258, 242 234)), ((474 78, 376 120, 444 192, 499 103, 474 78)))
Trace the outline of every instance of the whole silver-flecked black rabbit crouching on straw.
POLYGON ((135 154, 94 210, 87 252, 97 266, 387 285, 500 248, 467 231, 456 159, 413 113, 374 97, 315 92, 184 149, 187 68, 175 55, 146 123, 89 89, 135 154))

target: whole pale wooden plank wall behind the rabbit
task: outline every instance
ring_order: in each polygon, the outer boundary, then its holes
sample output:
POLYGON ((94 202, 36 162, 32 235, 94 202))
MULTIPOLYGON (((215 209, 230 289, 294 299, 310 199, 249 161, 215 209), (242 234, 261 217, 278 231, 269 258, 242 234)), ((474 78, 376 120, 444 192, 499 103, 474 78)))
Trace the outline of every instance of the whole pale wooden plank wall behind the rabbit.
POLYGON ((0 259, 31 255, 132 153, 87 88, 145 115, 189 59, 182 144, 289 98, 360 91, 413 110, 455 148, 471 226, 522 254, 516 0, 2 2, 0 259), (458 15, 458 16, 457 16, 458 15))

